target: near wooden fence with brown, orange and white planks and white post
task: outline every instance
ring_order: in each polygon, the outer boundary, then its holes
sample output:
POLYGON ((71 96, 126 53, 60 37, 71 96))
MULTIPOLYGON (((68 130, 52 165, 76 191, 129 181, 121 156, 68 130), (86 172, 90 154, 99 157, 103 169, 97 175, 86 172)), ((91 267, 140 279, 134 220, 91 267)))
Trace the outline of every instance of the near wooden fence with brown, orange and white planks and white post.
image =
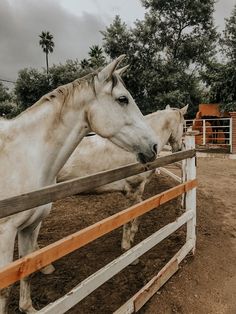
POLYGON ((185 137, 185 143, 186 151, 160 157, 148 165, 132 164, 126 167, 117 168, 81 179, 70 180, 27 194, 1 200, 0 218, 19 213, 39 205, 47 204, 112 181, 186 159, 186 162, 184 163, 184 182, 1 268, 0 288, 9 286, 10 284, 39 270, 51 262, 58 260, 74 250, 133 220, 135 217, 141 216, 144 213, 159 207, 161 204, 164 204, 185 193, 186 211, 182 216, 178 217, 176 221, 161 228, 156 233, 131 248, 129 251, 122 254, 120 257, 113 260, 93 275, 89 276, 65 296, 39 311, 39 313, 65 313, 93 292, 96 288, 135 261, 138 257, 175 232, 183 224, 187 223, 187 237, 186 243, 183 247, 164 266, 164 268, 160 270, 157 276, 155 276, 145 287, 143 287, 143 289, 141 289, 115 313, 137 312, 143 304, 145 304, 147 300, 178 270, 178 265, 186 254, 188 254, 191 250, 194 251, 195 249, 197 182, 194 136, 191 134, 187 135, 185 137))

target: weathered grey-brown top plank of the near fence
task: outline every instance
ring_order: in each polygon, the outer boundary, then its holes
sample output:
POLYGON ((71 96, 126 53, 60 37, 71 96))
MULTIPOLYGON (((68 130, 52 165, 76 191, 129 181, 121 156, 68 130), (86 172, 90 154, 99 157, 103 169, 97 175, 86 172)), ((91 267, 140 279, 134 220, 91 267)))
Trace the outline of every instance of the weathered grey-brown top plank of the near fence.
POLYGON ((111 183, 132 175, 139 174, 157 167, 195 156, 195 150, 174 153, 169 156, 157 158, 152 163, 142 165, 139 163, 95 175, 73 179, 54 184, 42 189, 0 200, 0 218, 7 217, 27 209, 48 204, 64 197, 92 190, 98 186, 111 183))

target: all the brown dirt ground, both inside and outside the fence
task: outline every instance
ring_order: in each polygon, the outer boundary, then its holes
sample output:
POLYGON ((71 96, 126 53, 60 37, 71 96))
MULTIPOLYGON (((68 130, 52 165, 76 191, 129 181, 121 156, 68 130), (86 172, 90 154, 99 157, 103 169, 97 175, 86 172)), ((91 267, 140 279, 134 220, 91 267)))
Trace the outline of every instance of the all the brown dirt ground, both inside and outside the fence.
MULTIPOLYGON (((236 313, 236 161, 198 159, 197 249, 180 270, 140 310, 142 314, 236 313)), ((176 183, 159 175, 148 185, 145 198, 176 183)), ((44 221, 39 243, 45 246, 128 206, 119 193, 68 197, 53 206, 44 221)), ((181 214, 180 200, 173 200, 142 218, 136 243, 181 214)), ((32 298, 36 308, 56 300, 87 276, 121 254, 122 229, 94 241, 54 263, 51 275, 36 273, 32 298)), ((115 311, 178 251, 185 228, 146 253, 136 266, 128 266, 68 313, 108 314, 115 311)), ((10 313, 18 312, 19 284, 12 290, 10 313)))

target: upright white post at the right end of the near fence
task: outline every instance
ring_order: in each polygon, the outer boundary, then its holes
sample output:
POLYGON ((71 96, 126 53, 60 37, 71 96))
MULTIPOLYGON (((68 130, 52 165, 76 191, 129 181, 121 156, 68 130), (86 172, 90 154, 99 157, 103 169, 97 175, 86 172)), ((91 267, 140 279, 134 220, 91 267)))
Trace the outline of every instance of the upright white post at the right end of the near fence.
MULTIPOLYGON (((189 131, 185 136, 185 149, 195 149, 195 135, 198 132, 189 131)), ((187 158, 185 162, 186 180, 192 180, 196 178, 196 157, 187 158)), ((192 241, 193 249, 195 252, 196 246, 196 188, 188 191, 185 197, 185 208, 187 211, 193 211, 193 218, 187 223, 187 237, 186 241, 192 241)))

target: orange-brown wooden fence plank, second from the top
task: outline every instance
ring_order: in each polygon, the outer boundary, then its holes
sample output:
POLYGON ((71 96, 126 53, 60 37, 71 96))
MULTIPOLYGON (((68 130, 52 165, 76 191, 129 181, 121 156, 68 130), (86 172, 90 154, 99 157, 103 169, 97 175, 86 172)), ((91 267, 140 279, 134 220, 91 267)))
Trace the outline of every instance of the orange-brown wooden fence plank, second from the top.
POLYGON ((0 269, 0 288, 7 287, 15 281, 92 242, 130 220, 193 189, 196 185, 196 180, 180 184, 12 262, 0 269))

